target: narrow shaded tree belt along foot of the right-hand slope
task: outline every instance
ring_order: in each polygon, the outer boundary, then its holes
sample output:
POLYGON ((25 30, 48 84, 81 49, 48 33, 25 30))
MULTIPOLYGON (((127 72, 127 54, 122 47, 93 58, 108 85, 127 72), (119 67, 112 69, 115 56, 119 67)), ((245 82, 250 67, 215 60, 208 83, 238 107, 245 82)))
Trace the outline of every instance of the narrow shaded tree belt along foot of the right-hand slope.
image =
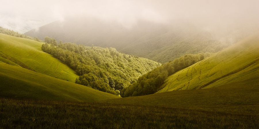
POLYGON ((180 58, 176 58, 173 61, 162 64, 160 67, 153 69, 142 77, 138 78, 138 81, 129 87, 125 87, 121 91, 122 97, 140 96, 156 93, 160 90, 161 85, 167 79, 168 76, 175 72, 184 69, 186 67, 195 64, 210 56, 211 53, 199 53, 199 54, 186 54, 180 58))

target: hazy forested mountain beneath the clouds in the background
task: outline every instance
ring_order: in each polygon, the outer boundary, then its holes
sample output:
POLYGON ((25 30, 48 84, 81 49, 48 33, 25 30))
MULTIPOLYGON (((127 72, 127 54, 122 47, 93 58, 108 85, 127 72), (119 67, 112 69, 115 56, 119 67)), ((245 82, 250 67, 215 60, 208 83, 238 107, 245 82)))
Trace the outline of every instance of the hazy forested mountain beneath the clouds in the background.
POLYGON ((184 23, 157 24, 138 21, 125 28, 115 21, 96 18, 66 18, 25 33, 44 40, 45 36, 57 41, 86 46, 113 47, 125 54, 133 54, 157 62, 167 62, 184 54, 215 53, 240 40, 238 34, 214 36, 202 28, 184 23))

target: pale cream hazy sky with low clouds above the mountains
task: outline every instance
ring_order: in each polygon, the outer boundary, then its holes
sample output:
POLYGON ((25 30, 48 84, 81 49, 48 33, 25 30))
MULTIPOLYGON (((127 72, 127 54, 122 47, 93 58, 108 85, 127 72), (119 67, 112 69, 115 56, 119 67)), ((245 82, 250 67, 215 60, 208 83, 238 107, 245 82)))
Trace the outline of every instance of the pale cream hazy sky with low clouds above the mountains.
POLYGON ((0 0, 0 5, 0 26, 20 33, 67 16, 98 17, 125 27, 139 19, 205 27, 259 23, 259 0, 0 0))

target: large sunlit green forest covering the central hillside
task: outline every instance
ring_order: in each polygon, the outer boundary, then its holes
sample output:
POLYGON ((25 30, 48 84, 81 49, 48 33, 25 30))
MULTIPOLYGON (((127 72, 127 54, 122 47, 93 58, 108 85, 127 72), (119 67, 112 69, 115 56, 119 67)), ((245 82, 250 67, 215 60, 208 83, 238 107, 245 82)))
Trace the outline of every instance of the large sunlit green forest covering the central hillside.
POLYGON ((115 48, 101 48, 72 43, 56 44, 46 37, 42 50, 70 66, 80 76, 75 83, 117 95, 137 81, 138 77, 161 64, 117 52, 115 48))

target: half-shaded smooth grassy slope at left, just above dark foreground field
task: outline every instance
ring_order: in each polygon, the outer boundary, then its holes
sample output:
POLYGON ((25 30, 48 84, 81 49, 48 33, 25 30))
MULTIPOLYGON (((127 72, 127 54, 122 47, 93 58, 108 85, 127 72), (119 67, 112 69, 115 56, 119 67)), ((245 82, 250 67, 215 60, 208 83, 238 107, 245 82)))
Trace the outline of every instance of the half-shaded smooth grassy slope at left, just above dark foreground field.
POLYGON ((100 101, 119 96, 0 63, 0 96, 24 99, 100 101))

